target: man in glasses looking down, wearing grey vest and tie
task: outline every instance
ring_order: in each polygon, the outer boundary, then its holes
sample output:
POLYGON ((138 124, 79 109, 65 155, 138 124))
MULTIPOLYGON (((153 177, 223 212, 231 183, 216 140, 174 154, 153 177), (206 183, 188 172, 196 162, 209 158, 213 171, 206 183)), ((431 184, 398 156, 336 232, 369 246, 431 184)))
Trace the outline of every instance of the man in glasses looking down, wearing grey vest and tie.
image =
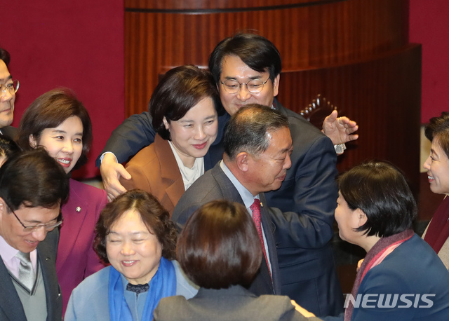
POLYGON ((0 168, 0 320, 61 320, 55 259, 62 167, 46 151, 17 153, 0 168))

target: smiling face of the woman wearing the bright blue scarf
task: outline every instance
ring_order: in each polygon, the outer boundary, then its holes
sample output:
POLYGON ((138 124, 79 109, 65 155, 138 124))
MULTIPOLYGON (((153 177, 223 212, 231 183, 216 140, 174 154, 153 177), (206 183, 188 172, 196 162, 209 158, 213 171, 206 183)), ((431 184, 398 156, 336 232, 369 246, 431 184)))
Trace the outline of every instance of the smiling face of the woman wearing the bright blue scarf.
POLYGON ((109 263, 133 285, 148 283, 156 274, 162 245, 135 210, 124 212, 106 236, 109 263))

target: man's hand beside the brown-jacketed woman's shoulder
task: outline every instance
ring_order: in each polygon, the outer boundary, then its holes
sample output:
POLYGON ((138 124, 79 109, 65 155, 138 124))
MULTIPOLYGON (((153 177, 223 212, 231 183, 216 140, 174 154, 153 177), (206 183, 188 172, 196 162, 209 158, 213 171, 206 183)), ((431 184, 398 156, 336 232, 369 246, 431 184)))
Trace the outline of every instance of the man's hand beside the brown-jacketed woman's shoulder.
POLYGON ((120 184, 119 178, 121 176, 124 179, 131 179, 131 175, 123 165, 117 163, 113 153, 105 153, 100 165, 100 173, 109 202, 126 192, 126 189, 120 184))

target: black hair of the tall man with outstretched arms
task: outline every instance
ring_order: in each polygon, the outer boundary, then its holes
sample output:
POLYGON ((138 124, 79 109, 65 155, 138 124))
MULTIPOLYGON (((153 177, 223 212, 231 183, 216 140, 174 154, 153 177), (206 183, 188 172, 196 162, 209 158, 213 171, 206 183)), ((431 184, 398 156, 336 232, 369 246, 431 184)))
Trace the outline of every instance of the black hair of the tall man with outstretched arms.
POLYGON ((228 55, 239 57, 251 69, 257 72, 269 72, 269 78, 281 74, 281 54, 274 44, 258 34, 240 32, 217 44, 209 57, 209 70, 215 83, 220 83, 223 60, 228 55))

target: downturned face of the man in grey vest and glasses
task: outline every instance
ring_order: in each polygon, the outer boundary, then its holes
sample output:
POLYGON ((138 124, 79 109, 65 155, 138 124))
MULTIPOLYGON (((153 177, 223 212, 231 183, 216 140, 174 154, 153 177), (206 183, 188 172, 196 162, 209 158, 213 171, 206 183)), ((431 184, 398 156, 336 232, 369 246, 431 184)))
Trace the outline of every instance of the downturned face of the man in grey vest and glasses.
MULTIPOLYGON (((14 212, 25 226, 51 224, 56 223, 58 220, 60 206, 58 204, 55 207, 46 208, 25 207, 22 205, 14 212)), ((23 231, 23 226, 13 212, 8 212, 6 203, 0 198, 0 235, 11 247, 21 252, 29 253, 36 249, 39 242, 46 238, 47 231, 43 227, 32 232, 23 231)))

